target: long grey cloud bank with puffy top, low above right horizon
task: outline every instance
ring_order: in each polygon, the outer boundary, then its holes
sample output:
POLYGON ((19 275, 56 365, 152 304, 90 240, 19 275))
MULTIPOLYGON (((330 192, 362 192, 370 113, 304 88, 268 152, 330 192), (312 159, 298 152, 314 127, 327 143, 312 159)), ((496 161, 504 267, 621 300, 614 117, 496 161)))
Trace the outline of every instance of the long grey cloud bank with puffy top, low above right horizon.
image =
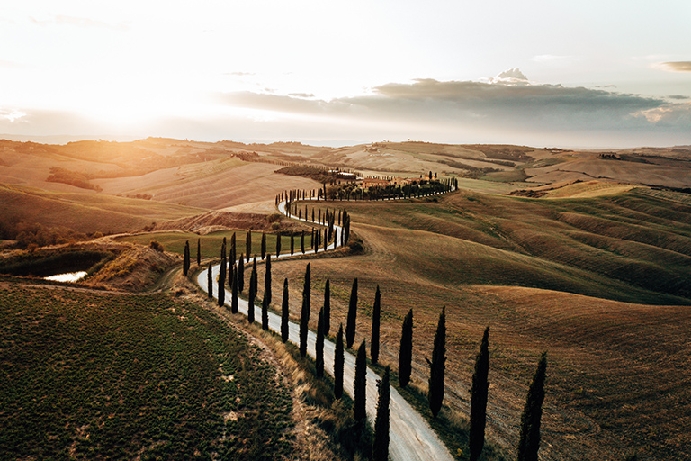
MULTIPOLYGON (((480 140, 490 142, 533 139, 535 143, 535 139, 547 142, 562 136, 570 139, 571 145, 581 146, 587 142, 575 144, 573 140, 597 137, 599 146, 607 144, 603 141, 607 137, 616 139, 616 145, 667 142, 653 141, 654 136, 669 142, 691 142, 687 104, 606 89, 534 84, 517 69, 503 72, 490 82, 420 78, 411 83, 375 86, 369 95, 328 101, 254 92, 218 95, 217 101, 283 113, 319 122, 322 127, 347 127, 344 130, 349 135, 363 130, 376 132, 379 128, 382 133, 405 134, 404 139, 438 140, 437 136, 456 133, 469 142, 478 140, 474 136, 480 133, 484 133, 480 140)), ((392 134, 387 136, 395 139, 392 134)))

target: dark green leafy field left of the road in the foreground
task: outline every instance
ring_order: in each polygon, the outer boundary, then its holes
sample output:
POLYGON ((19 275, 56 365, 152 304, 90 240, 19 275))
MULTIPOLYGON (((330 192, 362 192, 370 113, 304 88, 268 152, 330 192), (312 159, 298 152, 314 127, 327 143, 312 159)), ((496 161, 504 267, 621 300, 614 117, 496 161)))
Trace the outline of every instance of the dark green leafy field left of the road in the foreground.
POLYGON ((0 459, 292 454, 274 366, 194 304, 4 285, 0 341, 0 459))

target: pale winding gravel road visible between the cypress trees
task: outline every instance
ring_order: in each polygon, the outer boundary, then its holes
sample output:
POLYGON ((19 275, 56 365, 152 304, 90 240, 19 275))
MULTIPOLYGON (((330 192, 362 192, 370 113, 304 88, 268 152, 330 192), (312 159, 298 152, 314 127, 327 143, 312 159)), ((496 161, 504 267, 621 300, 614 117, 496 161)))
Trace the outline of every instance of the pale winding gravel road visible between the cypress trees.
MULTIPOLYGON (((279 203, 279 211, 285 214, 285 202, 279 203)), ((293 219, 298 219, 296 216, 291 216, 293 219)), ((308 221, 302 219, 301 221, 308 221)), ((340 232, 342 228, 335 226, 337 230, 337 239, 340 241, 340 232)), ((328 248, 335 248, 335 243, 328 246, 328 248)), ((321 249, 323 250, 323 249, 321 249)), ((305 251, 305 254, 313 253, 312 250, 305 251)), ((300 252, 300 254, 302 254, 300 252)), ((286 257, 290 255, 282 255, 286 257)), ((204 269, 202 273, 197 276, 197 284, 202 289, 209 293, 207 286, 207 270, 204 269)), ((211 268, 211 279, 216 280, 220 265, 211 268)), ((218 296, 217 290, 214 290, 214 296, 218 296)), ((226 296, 226 304, 230 304, 230 297, 226 296)), ((261 308, 254 306, 255 319, 262 318, 261 308)), ((238 299, 239 312, 247 315, 247 301, 238 299)), ((281 332, 281 317, 274 312, 269 312, 269 328, 275 332, 281 332)), ((300 343, 300 327, 294 322, 289 322, 289 340, 294 344, 300 343)), ((315 343, 317 341, 317 334, 314 331, 308 332, 307 339, 307 353, 310 357, 315 357, 315 343)), ((324 341, 324 369, 327 373, 333 376, 334 374, 334 354, 336 345, 325 339, 324 341)), ((353 385, 355 379, 355 357, 353 354, 346 351, 345 364, 343 373, 344 391, 353 397, 353 385), (349 385, 350 384, 350 385, 349 385)), ((366 407, 367 418, 373 423, 378 399, 377 381, 379 375, 376 375, 370 368, 367 368, 367 393, 366 393, 366 407)), ((390 444, 389 454, 393 461, 453 461, 453 456, 449 450, 444 446, 441 439, 437 437, 436 433, 426 420, 415 411, 406 400, 398 393, 398 391, 391 386, 390 388, 390 444)))

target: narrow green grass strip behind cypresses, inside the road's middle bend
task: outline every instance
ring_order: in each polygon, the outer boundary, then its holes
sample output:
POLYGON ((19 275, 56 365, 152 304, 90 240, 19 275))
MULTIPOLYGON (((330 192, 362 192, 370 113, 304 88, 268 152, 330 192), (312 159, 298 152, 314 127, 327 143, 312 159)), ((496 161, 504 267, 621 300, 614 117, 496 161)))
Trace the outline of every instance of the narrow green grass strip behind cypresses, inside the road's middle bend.
MULTIPOLYGON (((220 258, 220 247, 223 243, 223 238, 226 238, 228 249, 230 249, 230 239, 235 234, 236 251, 238 258, 240 253, 246 251, 246 236, 247 230, 219 230, 211 232, 206 235, 197 235, 192 232, 147 232, 143 234, 136 234, 124 237, 118 237, 117 241, 129 241, 130 243, 139 243, 139 245, 148 245, 151 240, 157 240, 166 249, 180 255, 184 254, 184 242, 190 242, 190 252, 192 259, 197 256, 197 240, 201 240, 202 258, 220 258)), ((272 256, 276 254, 276 239, 275 234, 266 234, 266 252, 272 256)), ((312 237, 310 234, 305 234, 305 250, 311 248, 312 237)), ((296 235, 294 238, 295 254, 301 254, 301 236, 296 235)), ((281 237, 281 253, 291 252, 291 238, 281 237)), ((262 234, 260 232, 252 232, 252 252, 251 255, 261 256, 262 254, 262 234)))

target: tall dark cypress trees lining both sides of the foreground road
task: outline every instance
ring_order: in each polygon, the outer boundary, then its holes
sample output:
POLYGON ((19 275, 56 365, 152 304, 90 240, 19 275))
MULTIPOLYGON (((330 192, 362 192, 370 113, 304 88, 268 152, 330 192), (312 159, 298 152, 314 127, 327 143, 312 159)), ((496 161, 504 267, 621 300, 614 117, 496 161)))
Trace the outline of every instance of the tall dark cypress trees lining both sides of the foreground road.
MULTIPOLYGON (((232 251, 234 251, 235 235, 232 238, 232 251)), ((223 240, 221 245, 221 270, 219 276, 219 305, 224 303, 225 294, 225 278, 226 278, 226 240, 223 240)), ((198 255, 199 255, 199 241, 198 241, 198 255)), ((185 244, 185 259, 189 257, 189 243, 185 244)), ((233 265, 229 264, 230 271, 229 285, 232 286, 232 303, 231 312, 238 312, 238 289, 241 292, 243 287, 241 285, 244 267, 242 256, 238 261, 238 268, 233 270, 233 265)), ((189 269, 189 262, 184 263, 184 270, 189 269)), ((307 353, 307 334, 309 330, 310 321, 310 263, 305 269, 304 285, 302 289, 302 309, 301 309, 301 323, 300 323, 300 352, 304 357, 307 353)), ((257 295, 257 275, 256 275, 256 257, 253 261, 253 268, 250 276, 250 285, 248 291, 249 305, 252 307, 248 310, 248 321, 251 323, 254 319, 254 303, 257 295)), ((212 296, 211 289, 211 263, 209 265, 209 296, 212 296)), ((355 325, 357 315, 357 300, 358 300, 358 282, 354 278, 353 286, 351 288, 350 302, 347 312, 346 320, 346 347, 352 348, 355 336, 355 325)), ((265 269, 265 295, 262 302, 262 328, 268 330, 268 305, 271 303, 271 256, 267 255, 266 269, 265 269)), ((282 322, 281 322, 281 336, 283 341, 288 340, 288 321, 289 321, 289 307, 288 307, 288 279, 283 281, 283 304, 282 304, 282 322)), ((381 292, 379 285, 377 285, 374 297, 374 304, 372 306, 372 342, 371 342, 371 360, 373 364, 378 363, 379 359, 379 330, 381 321, 381 292)), ((317 328, 317 347, 316 347, 316 373, 319 377, 324 374, 324 340, 330 330, 330 281, 327 279, 325 285, 324 305, 319 311, 319 320, 317 328)), ((432 360, 426 359, 430 366, 429 385, 429 406, 433 415, 436 416, 441 410, 444 400, 444 370, 445 370, 445 308, 443 308, 437 329, 435 333, 434 348, 432 353, 432 360)), ((413 332, 413 310, 409 310, 406 315, 401 331, 400 348, 399 348, 399 385, 405 387, 408 385, 412 371, 412 332, 413 332)), ((344 330, 343 325, 339 326, 336 343, 336 363, 334 367, 335 388, 334 393, 337 398, 343 393, 343 354, 344 354, 344 330)), ((362 420, 363 405, 364 405, 364 387, 365 381, 363 379, 363 370, 366 369, 366 348, 365 343, 358 348, 356 360, 356 373, 354 382, 354 418, 355 420, 362 420), (361 364, 360 373, 358 374, 357 364, 361 364), (362 364, 364 364, 362 366, 362 364)), ((535 372, 533 383, 528 391, 528 396, 525 402, 525 409, 521 418, 521 435, 519 438, 518 459, 536 460, 537 451, 540 445, 540 420, 542 416, 542 403, 544 398, 543 384, 546 370, 546 353, 538 363, 537 371, 535 372)), ((387 367, 385 371, 385 380, 389 382, 390 368, 387 367)), ((476 357, 475 370, 472 375, 471 387, 471 418, 469 430, 469 446, 470 459, 477 460, 480 458, 482 448, 484 447, 484 431, 486 427, 486 409, 488 402, 489 390, 489 327, 484 331, 482 341, 480 343, 480 352, 476 357)), ((381 383, 384 382, 382 378, 381 383)), ((380 384, 380 402, 377 410, 377 421, 384 418, 380 416, 380 412, 386 412, 388 421, 388 385, 380 384), (384 397, 383 394, 387 396, 384 397), (382 402, 386 400, 386 403, 382 402), (381 407, 381 411, 380 411, 381 407)), ((375 423, 375 446, 377 443, 381 444, 384 435, 381 433, 381 427, 384 423, 382 421, 375 423), (381 427, 380 427, 381 426, 381 427), (380 427, 378 430, 377 427, 380 427), (379 433, 379 436, 377 434, 379 433), (377 442, 379 440, 379 442, 377 442)), ((386 430, 386 438, 388 440, 388 426, 386 430)), ((387 453, 388 453, 388 442, 387 453)), ((381 447, 375 448, 381 451, 381 447)), ((385 458, 383 458, 385 459, 385 458)))

